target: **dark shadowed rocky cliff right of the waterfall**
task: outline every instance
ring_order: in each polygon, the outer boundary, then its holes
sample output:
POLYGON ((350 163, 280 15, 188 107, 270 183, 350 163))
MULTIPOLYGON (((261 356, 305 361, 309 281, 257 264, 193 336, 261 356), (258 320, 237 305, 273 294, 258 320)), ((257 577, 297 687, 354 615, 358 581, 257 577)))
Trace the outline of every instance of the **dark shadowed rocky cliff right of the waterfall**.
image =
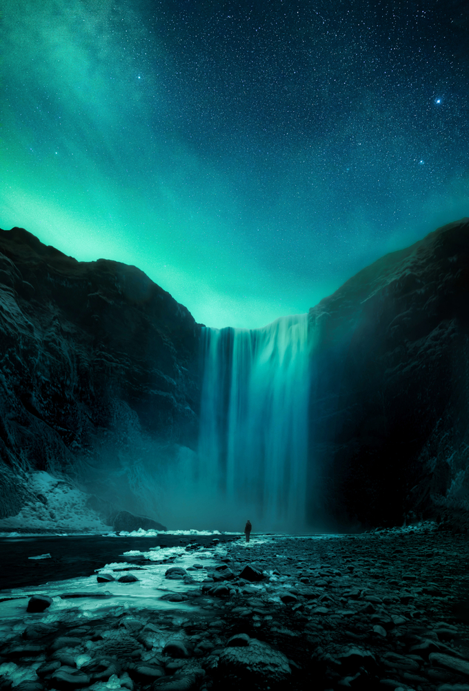
POLYGON ((376 525, 465 513, 469 219, 382 257, 309 319, 310 465, 326 515, 376 525))

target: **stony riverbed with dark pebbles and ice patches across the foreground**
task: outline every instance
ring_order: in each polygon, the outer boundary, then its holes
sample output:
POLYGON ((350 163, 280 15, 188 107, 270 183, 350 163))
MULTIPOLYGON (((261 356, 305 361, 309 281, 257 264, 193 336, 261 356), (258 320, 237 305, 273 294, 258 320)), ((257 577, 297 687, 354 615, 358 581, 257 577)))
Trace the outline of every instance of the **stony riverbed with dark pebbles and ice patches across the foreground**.
POLYGON ((0 686, 469 691, 468 556, 433 523, 134 551, 83 592, 0 592, 0 686))

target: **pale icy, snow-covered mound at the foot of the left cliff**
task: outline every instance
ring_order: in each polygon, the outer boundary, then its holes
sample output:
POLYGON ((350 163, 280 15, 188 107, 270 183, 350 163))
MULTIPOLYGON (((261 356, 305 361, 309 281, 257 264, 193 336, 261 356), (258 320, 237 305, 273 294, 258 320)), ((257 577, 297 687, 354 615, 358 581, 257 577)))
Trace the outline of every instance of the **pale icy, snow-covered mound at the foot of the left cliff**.
POLYGON ((37 500, 29 501, 17 515, 0 520, 0 531, 34 529, 80 532, 83 530, 102 533, 109 530, 101 518, 87 507, 90 495, 81 492, 70 482, 52 477, 45 471, 30 473, 26 484, 37 500))

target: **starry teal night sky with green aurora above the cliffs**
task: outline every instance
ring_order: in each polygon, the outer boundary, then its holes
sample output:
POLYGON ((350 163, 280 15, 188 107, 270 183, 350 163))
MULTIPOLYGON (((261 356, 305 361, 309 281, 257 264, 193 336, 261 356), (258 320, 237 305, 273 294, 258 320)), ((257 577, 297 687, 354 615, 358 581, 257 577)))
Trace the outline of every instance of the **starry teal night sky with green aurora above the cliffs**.
POLYGON ((3 0, 0 226, 208 326, 306 312, 469 216, 469 10, 3 0))

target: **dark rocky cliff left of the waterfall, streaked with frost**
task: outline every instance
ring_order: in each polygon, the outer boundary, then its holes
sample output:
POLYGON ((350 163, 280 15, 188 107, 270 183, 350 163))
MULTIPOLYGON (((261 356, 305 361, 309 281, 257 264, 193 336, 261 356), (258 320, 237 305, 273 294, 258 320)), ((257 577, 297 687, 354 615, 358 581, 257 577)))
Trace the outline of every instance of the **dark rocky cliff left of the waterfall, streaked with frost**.
POLYGON ((0 518, 35 499, 31 470, 143 513, 141 455, 195 443, 198 341, 186 307, 136 267, 0 230, 0 518))

